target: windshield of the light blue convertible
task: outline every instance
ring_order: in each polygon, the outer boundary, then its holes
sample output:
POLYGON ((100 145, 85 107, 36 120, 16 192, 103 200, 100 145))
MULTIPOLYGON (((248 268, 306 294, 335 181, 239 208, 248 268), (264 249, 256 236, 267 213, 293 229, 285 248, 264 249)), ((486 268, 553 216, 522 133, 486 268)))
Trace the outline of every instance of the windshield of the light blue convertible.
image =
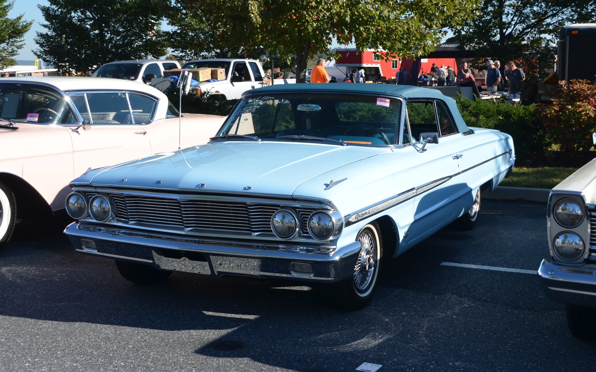
POLYGON ((327 138, 347 145, 399 145, 409 142, 401 139, 401 108, 401 99, 378 96, 321 93, 249 96, 238 103, 218 135, 307 142, 327 138))

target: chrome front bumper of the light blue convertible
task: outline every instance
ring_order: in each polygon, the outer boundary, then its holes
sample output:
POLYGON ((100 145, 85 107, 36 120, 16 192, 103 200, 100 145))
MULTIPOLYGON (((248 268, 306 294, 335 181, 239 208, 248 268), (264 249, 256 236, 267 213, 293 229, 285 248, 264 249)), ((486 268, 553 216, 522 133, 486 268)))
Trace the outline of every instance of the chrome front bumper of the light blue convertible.
POLYGON ((358 241, 322 251, 316 247, 271 246, 153 235, 72 223, 64 233, 85 254, 138 262, 186 273, 337 282, 352 275, 361 249, 358 241), (311 266, 308 273, 304 264, 311 266))

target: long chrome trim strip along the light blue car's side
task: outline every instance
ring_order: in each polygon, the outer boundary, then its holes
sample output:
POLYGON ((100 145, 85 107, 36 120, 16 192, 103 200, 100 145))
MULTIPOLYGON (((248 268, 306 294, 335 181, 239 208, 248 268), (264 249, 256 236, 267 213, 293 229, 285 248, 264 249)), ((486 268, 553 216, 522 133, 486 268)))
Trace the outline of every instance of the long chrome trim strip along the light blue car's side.
POLYGON ((437 186, 442 185, 443 183, 451 180, 455 176, 458 176, 458 175, 460 175, 462 173, 465 173, 465 172, 467 172, 469 170, 472 170, 472 169, 474 169, 476 167, 479 167, 480 165, 485 164, 485 163, 487 163, 489 161, 495 160, 496 158, 500 158, 503 155, 511 154, 511 151, 512 150, 509 149, 508 151, 505 151, 502 154, 496 155, 496 156, 494 156, 494 157, 492 157, 492 158, 490 158, 488 160, 479 162, 478 164, 473 165, 472 167, 467 168, 465 170, 462 170, 459 173, 455 173, 455 174, 452 174, 451 176, 446 176, 446 177, 443 177, 443 178, 440 178, 440 179, 433 180, 431 182, 425 183, 424 185, 416 186, 416 187, 414 187, 412 189, 409 189, 409 190, 406 190, 404 192, 401 192, 398 195, 395 195, 395 196, 392 196, 390 198, 384 199, 383 201, 380 201, 378 203, 369 205, 366 208, 362 208, 361 210, 352 212, 350 214, 346 214, 344 216, 345 226, 346 227, 347 226, 350 226, 350 225, 356 223, 357 221, 361 220, 364 217, 370 217, 372 215, 375 215, 375 214, 378 214, 380 212, 386 211, 389 208, 393 208, 393 207, 395 207, 396 205, 398 205, 398 204, 400 204, 402 202, 405 202, 405 201, 407 201, 407 200, 409 200, 411 198, 414 198, 414 196, 421 195, 421 194, 423 194, 423 193, 425 193, 425 192, 427 192, 429 190, 434 189, 434 187, 437 187, 437 186))

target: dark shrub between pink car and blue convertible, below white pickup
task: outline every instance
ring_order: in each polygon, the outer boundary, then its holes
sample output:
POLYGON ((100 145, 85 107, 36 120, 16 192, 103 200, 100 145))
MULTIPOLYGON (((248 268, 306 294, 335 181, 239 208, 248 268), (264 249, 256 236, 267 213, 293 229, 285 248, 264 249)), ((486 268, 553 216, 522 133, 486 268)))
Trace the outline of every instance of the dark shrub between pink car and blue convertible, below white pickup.
MULTIPOLYGON (((180 95, 178 90, 167 93, 167 99, 180 110, 180 95)), ((183 94, 182 112, 188 114, 209 114, 227 116, 238 100, 222 99, 220 95, 209 95, 203 92, 200 95, 183 94)))

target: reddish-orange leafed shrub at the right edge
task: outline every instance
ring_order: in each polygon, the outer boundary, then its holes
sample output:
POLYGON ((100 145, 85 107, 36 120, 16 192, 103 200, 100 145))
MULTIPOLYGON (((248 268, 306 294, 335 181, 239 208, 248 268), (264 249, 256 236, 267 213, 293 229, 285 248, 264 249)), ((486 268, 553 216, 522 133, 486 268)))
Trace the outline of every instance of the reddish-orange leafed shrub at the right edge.
POLYGON ((556 98, 542 108, 552 142, 563 151, 589 150, 596 131, 596 85, 588 80, 561 81, 556 98))

